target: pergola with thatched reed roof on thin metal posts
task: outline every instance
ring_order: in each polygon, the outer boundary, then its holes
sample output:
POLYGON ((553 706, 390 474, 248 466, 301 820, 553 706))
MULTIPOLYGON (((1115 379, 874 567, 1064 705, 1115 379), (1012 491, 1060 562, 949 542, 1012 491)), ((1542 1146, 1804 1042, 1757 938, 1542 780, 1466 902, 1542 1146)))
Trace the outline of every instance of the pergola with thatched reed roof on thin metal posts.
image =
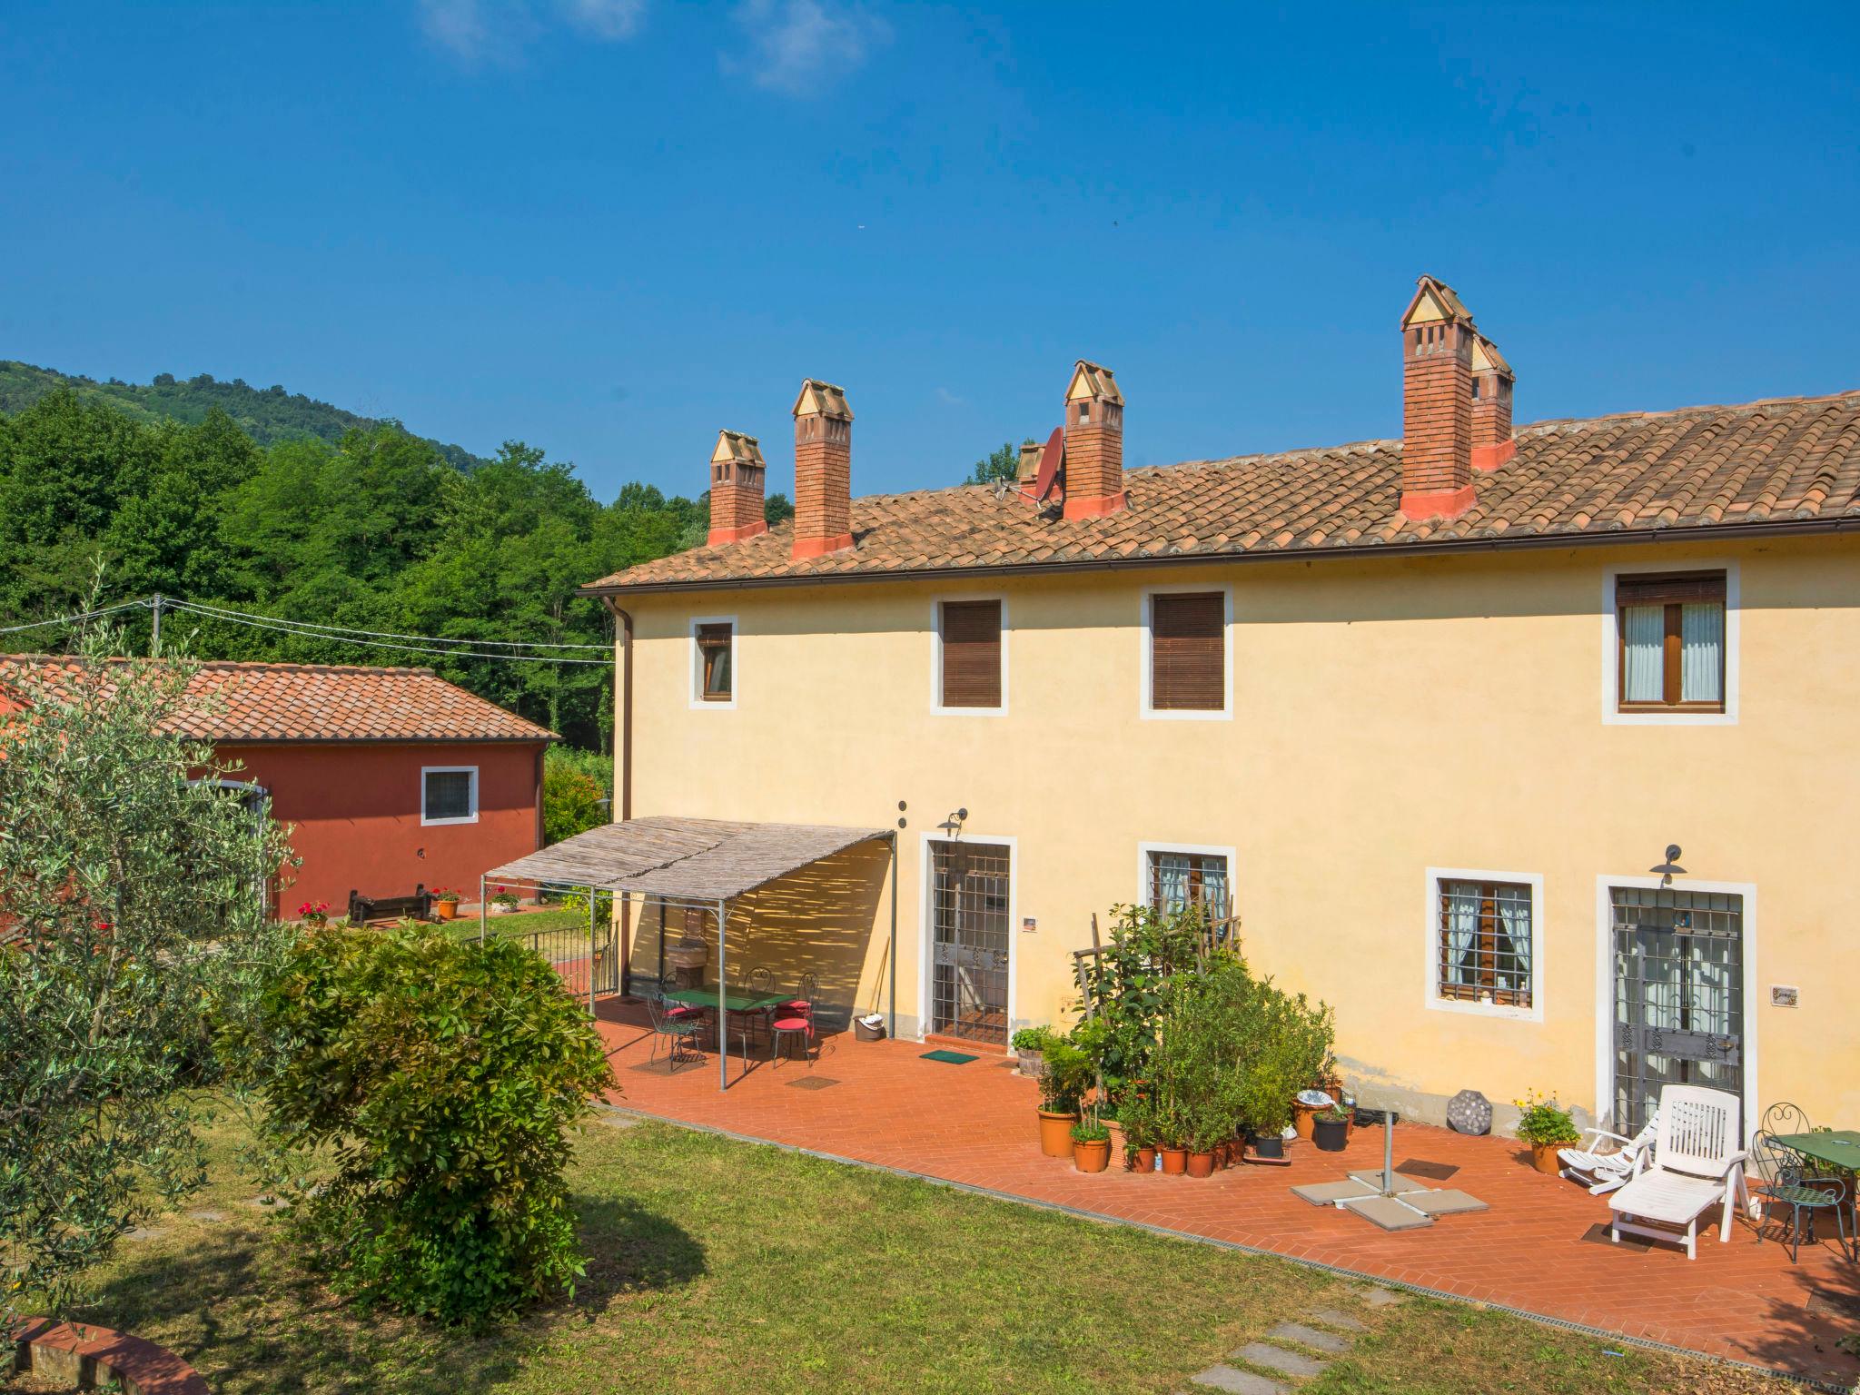
MULTIPOLYGON (((779 882, 789 872, 846 852, 859 843, 891 848, 891 952, 885 1029, 898 1027, 898 835, 887 828, 822 824, 748 824, 722 818, 629 818, 504 863, 478 878, 478 937, 485 936, 485 887, 521 882, 543 891, 588 893, 588 1010, 593 1012, 593 954, 599 932, 597 891, 642 897, 666 906, 716 913, 716 980, 727 984, 729 904, 779 882)), ((718 1088, 729 1088, 729 1053, 718 1051, 718 1088)))

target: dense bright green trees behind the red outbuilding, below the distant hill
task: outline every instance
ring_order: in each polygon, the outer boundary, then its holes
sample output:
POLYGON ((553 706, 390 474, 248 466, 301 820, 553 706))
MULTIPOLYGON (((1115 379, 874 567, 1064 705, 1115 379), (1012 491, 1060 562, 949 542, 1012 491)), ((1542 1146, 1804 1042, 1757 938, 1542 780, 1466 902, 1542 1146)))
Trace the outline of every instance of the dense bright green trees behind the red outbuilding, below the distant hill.
MULTIPOLYGON (((787 500, 770 498, 781 515, 787 500)), ((606 644, 575 588, 703 541, 703 500, 629 484, 595 500, 567 463, 512 441, 459 471, 394 424, 260 445, 223 411, 140 420, 56 389, 0 417, 0 625, 67 614, 99 562, 102 599, 162 593, 283 619, 454 638, 606 644)), ((149 619, 132 616, 132 647, 149 619)), ((430 664, 491 701, 606 750, 612 664, 365 649, 171 614, 203 658, 430 664)), ((0 638, 58 649, 67 631, 0 638)), ((582 655, 588 657, 588 655, 582 655)))

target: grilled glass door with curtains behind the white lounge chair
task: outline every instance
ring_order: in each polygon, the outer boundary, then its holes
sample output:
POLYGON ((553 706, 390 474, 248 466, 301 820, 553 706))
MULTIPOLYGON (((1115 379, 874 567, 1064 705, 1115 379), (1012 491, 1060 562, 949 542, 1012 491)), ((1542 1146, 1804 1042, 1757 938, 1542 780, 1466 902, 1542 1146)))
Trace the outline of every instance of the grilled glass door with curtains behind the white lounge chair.
POLYGON ((1614 1129, 1635 1135, 1663 1084, 1743 1097, 1743 897, 1609 887, 1614 1129))

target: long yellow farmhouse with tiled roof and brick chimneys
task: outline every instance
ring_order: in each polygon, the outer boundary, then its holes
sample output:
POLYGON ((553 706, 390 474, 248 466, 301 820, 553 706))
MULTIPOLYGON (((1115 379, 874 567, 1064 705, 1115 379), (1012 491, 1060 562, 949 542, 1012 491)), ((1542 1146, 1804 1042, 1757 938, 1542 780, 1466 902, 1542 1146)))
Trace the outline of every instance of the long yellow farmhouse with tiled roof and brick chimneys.
POLYGON ((1017 482, 861 498, 809 379, 792 523, 724 432, 709 545, 588 588, 623 807, 897 828, 895 965, 882 844, 740 952, 895 971, 906 1036, 1064 1019, 1094 915, 1200 900, 1369 1103, 1860 1112, 1860 392, 1514 430, 1449 286, 1401 346, 1401 441, 1125 471, 1081 361, 1017 482))

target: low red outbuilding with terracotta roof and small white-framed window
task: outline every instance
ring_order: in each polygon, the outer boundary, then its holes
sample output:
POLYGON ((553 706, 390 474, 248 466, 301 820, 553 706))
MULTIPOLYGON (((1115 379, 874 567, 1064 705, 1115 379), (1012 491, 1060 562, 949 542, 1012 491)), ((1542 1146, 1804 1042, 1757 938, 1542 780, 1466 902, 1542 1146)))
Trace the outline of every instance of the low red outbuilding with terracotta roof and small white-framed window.
MULTIPOLYGON (((7 670, 80 660, 0 657, 7 670)), ((426 668, 201 664, 199 707, 175 727, 208 740, 223 777, 253 787, 290 826, 303 865, 279 913, 344 913, 350 891, 411 897, 452 887, 543 844, 543 750, 556 735, 426 668)))

